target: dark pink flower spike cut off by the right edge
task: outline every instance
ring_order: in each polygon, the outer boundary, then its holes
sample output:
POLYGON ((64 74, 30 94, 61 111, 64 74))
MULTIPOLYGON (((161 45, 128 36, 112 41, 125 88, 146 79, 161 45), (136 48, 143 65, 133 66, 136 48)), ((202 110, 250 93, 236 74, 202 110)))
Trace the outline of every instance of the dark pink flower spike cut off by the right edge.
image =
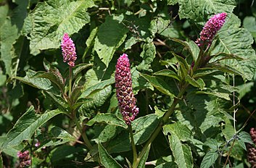
MULTIPOLYGON (((256 144, 256 128, 252 127, 249 130, 249 134, 251 135, 252 141, 256 144)), ((256 148, 249 143, 247 144, 247 159, 252 168, 256 168, 256 148)))

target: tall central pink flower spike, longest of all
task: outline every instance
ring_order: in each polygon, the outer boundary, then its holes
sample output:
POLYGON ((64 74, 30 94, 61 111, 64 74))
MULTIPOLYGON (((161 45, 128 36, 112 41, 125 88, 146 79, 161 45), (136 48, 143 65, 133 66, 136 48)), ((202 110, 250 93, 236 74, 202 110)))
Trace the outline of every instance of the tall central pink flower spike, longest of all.
POLYGON ((117 89, 117 101, 123 119, 126 124, 131 125, 131 122, 139 113, 139 108, 136 106, 136 98, 133 95, 130 62, 127 54, 123 54, 117 60, 115 88, 117 89))

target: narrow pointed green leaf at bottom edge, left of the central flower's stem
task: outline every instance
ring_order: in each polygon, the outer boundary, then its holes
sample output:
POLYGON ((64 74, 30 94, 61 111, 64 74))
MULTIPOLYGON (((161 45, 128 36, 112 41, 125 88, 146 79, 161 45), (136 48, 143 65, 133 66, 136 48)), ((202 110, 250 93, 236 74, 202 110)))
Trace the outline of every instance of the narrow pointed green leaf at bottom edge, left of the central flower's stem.
POLYGON ((101 143, 98 144, 99 146, 99 157, 101 159, 101 163, 106 168, 122 168, 120 164, 115 161, 115 159, 107 153, 107 150, 102 146, 101 143))

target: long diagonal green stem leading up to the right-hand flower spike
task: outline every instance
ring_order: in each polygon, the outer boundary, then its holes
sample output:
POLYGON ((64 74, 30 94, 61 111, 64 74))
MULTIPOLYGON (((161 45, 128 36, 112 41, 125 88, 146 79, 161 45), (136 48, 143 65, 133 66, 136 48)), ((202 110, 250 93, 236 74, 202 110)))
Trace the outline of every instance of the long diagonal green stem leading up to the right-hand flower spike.
POLYGON ((157 128, 154 130, 154 133, 150 136, 149 140, 146 141, 145 146, 142 148, 141 153, 139 154, 136 164, 133 164, 133 168, 138 167, 139 161, 141 160, 142 156, 146 153, 146 149, 151 145, 151 143, 154 141, 155 138, 157 138, 158 133, 160 133, 160 130, 162 130, 162 126, 165 124, 165 122, 168 122, 168 119, 171 114, 173 114, 174 109, 176 105, 178 104, 178 100, 182 98, 183 93, 186 91, 186 87, 188 85, 184 85, 183 88, 181 88, 181 91, 178 93, 178 96, 174 98, 173 104, 170 106, 170 109, 168 112, 165 113, 165 115, 162 117, 162 121, 157 125, 157 128))

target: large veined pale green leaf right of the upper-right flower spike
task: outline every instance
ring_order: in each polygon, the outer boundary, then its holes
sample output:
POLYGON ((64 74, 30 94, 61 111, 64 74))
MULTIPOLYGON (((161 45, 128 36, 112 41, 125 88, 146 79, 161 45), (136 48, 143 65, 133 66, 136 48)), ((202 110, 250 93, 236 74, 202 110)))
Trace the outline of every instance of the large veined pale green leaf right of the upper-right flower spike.
POLYGON ((235 74, 239 72, 244 79, 251 80, 256 69, 256 56, 252 49, 253 39, 248 30, 239 28, 240 25, 239 18, 230 14, 223 28, 218 31, 219 43, 212 54, 223 52, 241 57, 243 60, 226 59, 221 61, 221 64, 228 65, 233 73, 236 70, 235 74))

